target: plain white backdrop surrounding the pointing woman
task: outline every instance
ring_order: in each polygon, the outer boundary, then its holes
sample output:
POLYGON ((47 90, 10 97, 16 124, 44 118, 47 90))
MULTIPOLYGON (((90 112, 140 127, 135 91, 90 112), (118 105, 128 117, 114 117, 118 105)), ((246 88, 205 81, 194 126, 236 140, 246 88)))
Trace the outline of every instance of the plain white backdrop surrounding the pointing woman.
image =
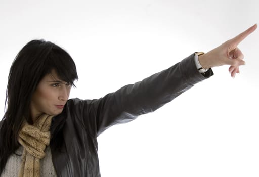
MULTIPOLYGON (((61 46, 79 80, 71 98, 100 98, 259 22, 258 1, 0 0, 0 114, 9 68, 32 39, 61 46)), ((258 29, 228 66, 164 107, 98 138, 102 176, 259 176, 258 29)))

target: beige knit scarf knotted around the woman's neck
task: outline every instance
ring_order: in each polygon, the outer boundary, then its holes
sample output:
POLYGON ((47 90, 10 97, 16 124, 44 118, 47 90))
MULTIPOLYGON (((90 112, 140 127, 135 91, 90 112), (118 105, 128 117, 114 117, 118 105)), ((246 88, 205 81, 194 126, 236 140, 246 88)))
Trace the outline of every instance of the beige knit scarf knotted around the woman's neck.
POLYGON ((42 114, 33 125, 26 121, 19 131, 18 142, 23 146, 19 177, 39 177, 40 159, 45 157, 50 144, 50 126, 53 116, 42 114))

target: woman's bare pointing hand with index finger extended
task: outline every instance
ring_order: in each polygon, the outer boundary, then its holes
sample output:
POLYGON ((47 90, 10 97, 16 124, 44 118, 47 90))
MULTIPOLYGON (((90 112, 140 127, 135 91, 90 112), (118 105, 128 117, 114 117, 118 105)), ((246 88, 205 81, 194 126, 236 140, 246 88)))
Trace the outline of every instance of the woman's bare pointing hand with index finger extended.
POLYGON ((219 47, 199 56, 199 62, 203 68, 230 65, 229 72, 232 77, 239 73, 239 66, 244 65, 244 55, 238 49, 238 44, 257 28, 257 24, 251 26, 236 37, 227 40, 219 47))

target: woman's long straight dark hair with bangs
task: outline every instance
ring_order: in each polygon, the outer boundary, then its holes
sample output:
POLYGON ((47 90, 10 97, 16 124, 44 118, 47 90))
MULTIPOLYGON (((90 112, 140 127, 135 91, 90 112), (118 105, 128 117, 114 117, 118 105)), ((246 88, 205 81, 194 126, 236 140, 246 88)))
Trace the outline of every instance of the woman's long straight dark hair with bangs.
POLYGON ((19 147, 18 132, 24 119, 30 119, 30 100, 40 80, 55 70, 59 79, 70 82, 78 79, 70 55, 50 41, 32 40, 17 54, 8 76, 5 115, 0 122, 0 174, 8 157, 19 147))

